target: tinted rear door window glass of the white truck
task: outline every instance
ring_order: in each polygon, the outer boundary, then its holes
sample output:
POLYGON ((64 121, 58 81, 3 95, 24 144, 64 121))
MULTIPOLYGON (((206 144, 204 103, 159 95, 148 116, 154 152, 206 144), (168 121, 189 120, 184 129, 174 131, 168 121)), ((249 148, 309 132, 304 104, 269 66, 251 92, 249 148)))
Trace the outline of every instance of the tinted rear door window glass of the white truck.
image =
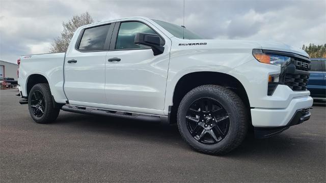
POLYGON ((78 49, 82 51, 103 50, 108 28, 110 24, 85 29, 78 49))

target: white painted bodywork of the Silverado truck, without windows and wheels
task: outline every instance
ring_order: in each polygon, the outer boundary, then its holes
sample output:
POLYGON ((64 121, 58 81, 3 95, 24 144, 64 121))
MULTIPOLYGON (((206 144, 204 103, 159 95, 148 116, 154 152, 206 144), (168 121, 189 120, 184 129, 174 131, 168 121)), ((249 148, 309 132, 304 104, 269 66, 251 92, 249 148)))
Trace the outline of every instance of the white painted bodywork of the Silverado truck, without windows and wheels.
POLYGON ((312 105, 310 92, 294 92, 286 85, 278 85, 274 95, 267 96, 268 75, 279 74, 280 67, 259 63, 252 54, 253 49, 309 56, 303 50, 276 42, 179 39, 151 19, 134 17, 79 27, 66 55, 22 56, 18 82, 22 95, 28 96, 29 76, 40 74, 48 80, 57 103, 69 101, 76 106, 167 116, 169 106, 173 105, 175 87, 183 76, 194 72, 219 72, 236 78, 246 89, 250 107, 255 108, 251 110, 254 126, 284 125, 296 109, 312 105), (75 49, 82 29, 122 20, 149 25, 165 40, 164 53, 153 56, 151 49, 96 52, 75 49), (189 43, 205 44, 187 45, 189 43), (121 62, 107 61, 113 57, 121 58, 121 62), (71 59, 78 62, 67 63, 71 59), (270 116, 265 120, 266 113, 280 115, 277 119, 270 116))

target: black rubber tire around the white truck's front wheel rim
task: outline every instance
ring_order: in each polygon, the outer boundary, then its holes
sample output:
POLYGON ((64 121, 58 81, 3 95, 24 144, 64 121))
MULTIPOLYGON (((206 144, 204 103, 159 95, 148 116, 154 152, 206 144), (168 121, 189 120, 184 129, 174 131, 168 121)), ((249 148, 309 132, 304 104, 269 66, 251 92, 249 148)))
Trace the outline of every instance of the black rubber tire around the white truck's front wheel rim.
MULTIPOLYGON (((211 102, 210 102, 211 103, 211 102)), ((212 104, 210 104, 212 106, 212 104)), ((208 109, 208 102, 207 102, 207 109, 208 109)), ((211 107, 213 108, 213 107, 211 107)), ((206 106, 205 106, 206 109, 206 106)), ((191 111, 191 112, 192 112, 191 111)), ((198 109, 199 112, 202 111, 202 109, 198 109)), ((198 112, 196 111, 196 112, 198 112)), ((209 111, 209 109, 207 110, 209 111)), ((215 110, 218 111, 218 110, 215 110)), ((202 111, 205 112, 205 111, 202 111)), ((197 115, 197 114, 196 114, 197 115)), ((201 113, 198 113, 198 116, 202 115, 201 113)), ((215 114, 212 114, 215 115, 215 114)), ((205 115, 203 115, 205 116, 205 115)), ((209 115, 210 116, 210 115, 209 115)), ((206 118, 208 116, 206 115, 206 118)), ((204 118, 204 119, 206 119, 204 118)), ((215 117, 214 117, 215 118, 215 117)), ((221 117, 222 118, 222 117, 221 117)), ((223 120, 226 119, 223 118, 223 120)), ((211 119, 212 123, 216 122, 215 124, 220 123, 219 118, 211 119)), ((208 121, 208 120, 206 120, 208 121)), ((194 89, 192 89, 190 92, 188 92, 180 102, 178 112, 177 112, 177 124, 179 128, 179 132, 182 136, 182 138, 195 150, 200 151, 201 153, 205 154, 214 154, 214 155, 223 155, 228 153, 229 151, 233 150, 236 148, 238 145, 241 144, 243 139, 246 137, 246 133, 248 131, 248 112, 247 108, 244 105, 244 103, 241 101, 241 99, 234 93, 232 90, 225 88, 223 86, 219 85, 202 85, 198 86, 194 89), (200 120, 203 118, 196 117, 198 121, 195 123, 199 124, 205 124, 205 128, 200 127, 201 129, 199 130, 200 136, 197 134, 197 139, 194 137, 194 134, 192 135, 193 132, 189 130, 189 125, 187 122, 188 118, 186 119, 186 115, 188 115, 189 110, 191 109, 191 106, 196 106, 195 101, 199 100, 204 100, 204 99, 209 99, 212 101, 216 101, 216 103, 219 103, 221 106, 221 109, 224 107, 225 108, 225 113, 228 117, 228 121, 225 123, 228 123, 228 125, 225 125, 225 129, 228 131, 226 134, 220 133, 222 132, 221 130, 219 131, 218 135, 221 134, 221 137, 219 136, 219 140, 217 135, 215 136, 215 139, 212 138, 211 144, 205 143, 206 141, 199 141, 199 138, 202 138, 202 134, 204 133, 204 136, 206 135, 205 129, 207 128, 206 122, 203 123, 200 120), (203 132, 201 132, 203 131, 203 132), (223 134, 223 138, 222 138, 223 134)), ((197 125, 199 126, 199 125, 197 125)), ((196 129, 197 129, 196 126, 196 129)), ((208 124, 208 128, 209 128, 208 124)), ((215 126, 214 126, 215 127, 215 126)), ((212 127, 213 128, 213 127, 212 127)), ((212 130, 211 128, 211 130, 212 130)), ((216 127, 215 129, 220 129, 216 127)), ((198 130, 197 130, 198 131, 198 130)), ((212 130, 213 131, 213 130, 212 130)), ((213 135, 210 135, 208 133, 208 137, 213 137, 213 135)), ((207 141, 210 142, 210 141, 207 141)))

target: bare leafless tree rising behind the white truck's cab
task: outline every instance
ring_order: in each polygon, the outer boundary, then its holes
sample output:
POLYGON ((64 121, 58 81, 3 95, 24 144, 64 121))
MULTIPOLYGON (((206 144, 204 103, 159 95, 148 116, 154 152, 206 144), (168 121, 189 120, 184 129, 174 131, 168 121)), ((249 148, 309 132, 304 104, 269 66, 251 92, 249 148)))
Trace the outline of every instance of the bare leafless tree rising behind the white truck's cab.
POLYGON ((63 31, 61 37, 53 39, 49 53, 66 52, 69 46, 73 33, 80 26, 93 23, 94 20, 91 15, 86 12, 81 15, 73 16, 68 22, 62 22, 63 31))

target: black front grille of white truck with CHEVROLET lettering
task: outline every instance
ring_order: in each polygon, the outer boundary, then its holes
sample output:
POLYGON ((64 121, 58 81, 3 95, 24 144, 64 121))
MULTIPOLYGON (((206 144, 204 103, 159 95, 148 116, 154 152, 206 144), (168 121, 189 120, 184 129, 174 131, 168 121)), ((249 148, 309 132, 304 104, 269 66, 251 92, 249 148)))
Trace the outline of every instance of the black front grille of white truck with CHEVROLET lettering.
POLYGON ((284 84, 293 91, 307 90, 309 79, 310 60, 291 57, 291 63, 287 66, 284 84))

